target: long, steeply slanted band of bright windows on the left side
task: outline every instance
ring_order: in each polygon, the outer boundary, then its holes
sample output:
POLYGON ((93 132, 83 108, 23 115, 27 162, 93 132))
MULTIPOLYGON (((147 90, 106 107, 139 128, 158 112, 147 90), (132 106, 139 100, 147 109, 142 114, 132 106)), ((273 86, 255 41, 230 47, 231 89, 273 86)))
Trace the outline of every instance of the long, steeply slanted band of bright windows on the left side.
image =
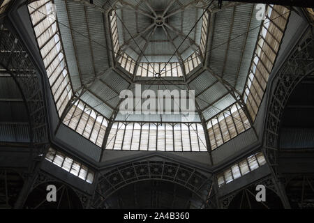
POLYGON ((29 3, 28 9, 38 49, 47 71, 54 105, 60 118, 73 97, 73 86, 63 52, 57 14, 51 0, 34 1, 29 3))

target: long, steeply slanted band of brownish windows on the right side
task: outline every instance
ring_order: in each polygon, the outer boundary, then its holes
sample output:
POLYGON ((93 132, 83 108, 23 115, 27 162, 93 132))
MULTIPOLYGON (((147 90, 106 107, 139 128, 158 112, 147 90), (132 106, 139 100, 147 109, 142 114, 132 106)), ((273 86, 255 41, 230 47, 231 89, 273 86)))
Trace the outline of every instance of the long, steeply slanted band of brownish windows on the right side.
POLYGON ((289 9, 284 6, 267 6, 266 20, 262 21, 242 94, 253 122, 260 109, 269 75, 274 68, 289 16, 289 9), (283 16, 279 17, 280 15, 283 16))

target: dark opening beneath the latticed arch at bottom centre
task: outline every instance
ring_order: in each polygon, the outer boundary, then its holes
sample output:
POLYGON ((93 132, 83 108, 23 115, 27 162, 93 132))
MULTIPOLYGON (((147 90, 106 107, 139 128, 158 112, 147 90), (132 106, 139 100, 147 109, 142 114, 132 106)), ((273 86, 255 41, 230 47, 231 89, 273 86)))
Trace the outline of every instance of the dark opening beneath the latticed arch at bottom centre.
POLYGON ((204 201, 180 185, 145 180, 121 188, 107 199, 105 206, 119 209, 200 209, 204 208, 204 201))

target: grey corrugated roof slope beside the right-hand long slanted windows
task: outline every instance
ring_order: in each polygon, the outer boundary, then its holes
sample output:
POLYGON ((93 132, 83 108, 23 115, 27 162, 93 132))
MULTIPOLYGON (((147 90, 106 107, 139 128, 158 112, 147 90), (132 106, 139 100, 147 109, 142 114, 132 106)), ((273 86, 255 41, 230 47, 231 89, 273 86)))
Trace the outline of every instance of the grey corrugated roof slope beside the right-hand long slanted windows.
POLYGON ((251 14, 253 7, 254 5, 250 3, 237 6, 235 10, 234 8, 227 8, 216 13, 209 67, 217 75, 223 75, 225 81, 235 86, 238 91, 243 91, 259 31, 258 26, 260 25, 260 21, 255 19, 257 13, 255 7, 251 14), (251 17, 252 20, 250 23, 251 17), (256 27, 257 29, 253 29, 256 27), (251 31, 248 32, 248 38, 246 38, 248 29, 251 31), (228 51, 225 61, 226 50, 228 51), (242 52, 244 52, 243 57, 242 52), (224 61, 225 68, 223 68, 224 61), (239 77, 237 77, 238 70, 239 77))

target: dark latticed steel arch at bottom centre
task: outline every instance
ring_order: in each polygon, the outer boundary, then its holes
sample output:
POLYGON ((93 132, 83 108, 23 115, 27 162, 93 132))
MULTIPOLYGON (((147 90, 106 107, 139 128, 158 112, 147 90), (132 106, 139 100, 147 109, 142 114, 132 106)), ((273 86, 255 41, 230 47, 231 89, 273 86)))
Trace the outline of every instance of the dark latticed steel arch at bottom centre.
POLYGON ((169 181, 193 192, 207 208, 215 208, 213 179, 201 174, 197 169, 165 161, 131 162, 100 173, 91 208, 106 208, 105 201, 111 194, 126 185, 142 180, 169 181))

